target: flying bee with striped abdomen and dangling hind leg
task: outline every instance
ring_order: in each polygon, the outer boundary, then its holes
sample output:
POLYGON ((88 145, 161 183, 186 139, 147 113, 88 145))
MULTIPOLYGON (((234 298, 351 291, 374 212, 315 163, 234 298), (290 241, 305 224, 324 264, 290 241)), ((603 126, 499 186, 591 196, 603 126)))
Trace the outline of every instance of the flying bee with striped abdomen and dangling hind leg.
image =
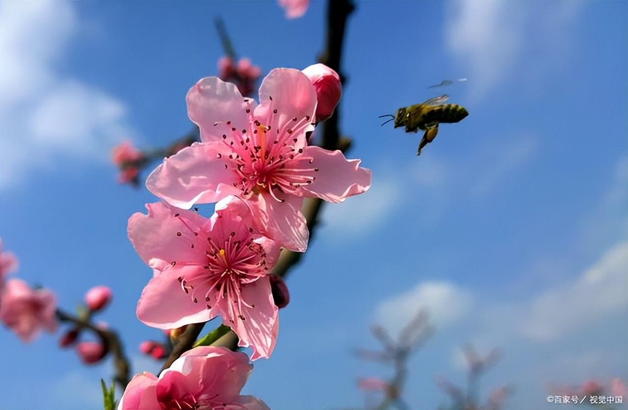
POLYGON ((391 117, 391 119, 385 121, 382 126, 390 121, 394 121, 395 128, 406 127, 406 132, 425 131, 416 153, 417 155, 421 155, 421 149, 436 138, 436 134, 438 134, 438 124, 460 122, 469 115, 467 109, 462 107, 462 105, 444 104, 448 100, 448 95, 440 95, 439 97, 426 100, 421 104, 401 107, 394 116, 392 114, 386 114, 385 116, 379 117, 391 117))

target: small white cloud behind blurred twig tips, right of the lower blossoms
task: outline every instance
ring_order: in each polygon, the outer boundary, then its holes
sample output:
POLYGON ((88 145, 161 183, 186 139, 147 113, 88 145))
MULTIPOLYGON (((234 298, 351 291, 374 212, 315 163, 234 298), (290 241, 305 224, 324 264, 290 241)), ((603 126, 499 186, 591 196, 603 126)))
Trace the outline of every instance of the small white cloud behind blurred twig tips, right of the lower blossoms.
POLYGON ((419 310, 426 308, 430 322, 442 328, 465 315, 472 303, 470 294, 447 281, 423 281, 398 296, 382 301, 376 323, 396 334, 419 310))

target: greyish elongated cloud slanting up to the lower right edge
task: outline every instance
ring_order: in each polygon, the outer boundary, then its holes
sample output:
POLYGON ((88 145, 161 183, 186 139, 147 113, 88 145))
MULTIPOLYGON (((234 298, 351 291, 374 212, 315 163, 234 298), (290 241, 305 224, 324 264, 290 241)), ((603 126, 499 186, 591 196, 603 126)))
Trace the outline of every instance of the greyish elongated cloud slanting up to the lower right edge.
POLYGON ((575 282, 534 298, 522 323, 526 337, 556 340, 628 306, 628 242, 615 245, 575 282))

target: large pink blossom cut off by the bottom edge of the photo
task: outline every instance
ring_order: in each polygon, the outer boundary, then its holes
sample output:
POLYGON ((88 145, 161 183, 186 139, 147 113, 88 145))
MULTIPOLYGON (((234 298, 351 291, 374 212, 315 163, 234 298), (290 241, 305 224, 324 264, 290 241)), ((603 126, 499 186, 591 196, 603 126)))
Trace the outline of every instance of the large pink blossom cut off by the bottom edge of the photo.
POLYGON ((256 397, 240 396, 252 368, 245 353, 214 346, 193 348, 159 378, 148 372, 135 375, 118 410, 268 409, 256 397))

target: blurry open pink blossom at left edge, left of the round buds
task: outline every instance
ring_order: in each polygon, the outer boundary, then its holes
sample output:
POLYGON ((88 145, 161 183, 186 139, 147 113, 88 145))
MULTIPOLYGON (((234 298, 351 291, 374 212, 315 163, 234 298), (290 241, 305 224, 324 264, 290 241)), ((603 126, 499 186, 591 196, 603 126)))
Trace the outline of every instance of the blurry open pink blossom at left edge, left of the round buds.
POLYGON ((33 290, 20 279, 7 281, 0 303, 0 320, 24 342, 31 342, 43 328, 57 330, 57 298, 47 289, 33 290))

